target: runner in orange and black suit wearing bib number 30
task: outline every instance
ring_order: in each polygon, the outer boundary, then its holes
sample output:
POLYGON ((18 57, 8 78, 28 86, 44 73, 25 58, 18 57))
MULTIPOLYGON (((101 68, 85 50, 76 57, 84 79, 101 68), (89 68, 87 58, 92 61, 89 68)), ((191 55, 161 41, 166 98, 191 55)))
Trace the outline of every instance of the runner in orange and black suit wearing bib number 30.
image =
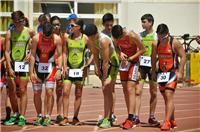
POLYGON ((158 42, 153 43, 152 52, 152 77, 156 79, 156 55, 158 55, 159 70, 157 82, 160 92, 165 101, 165 120, 161 130, 170 130, 176 127, 174 118, 174 93, 178 81, 183 80, 186 54, 181 43, 170 36, 166 24, 157 27, 158 42), (180 64, 177 68, 176 57, 180 57, 180 64))

